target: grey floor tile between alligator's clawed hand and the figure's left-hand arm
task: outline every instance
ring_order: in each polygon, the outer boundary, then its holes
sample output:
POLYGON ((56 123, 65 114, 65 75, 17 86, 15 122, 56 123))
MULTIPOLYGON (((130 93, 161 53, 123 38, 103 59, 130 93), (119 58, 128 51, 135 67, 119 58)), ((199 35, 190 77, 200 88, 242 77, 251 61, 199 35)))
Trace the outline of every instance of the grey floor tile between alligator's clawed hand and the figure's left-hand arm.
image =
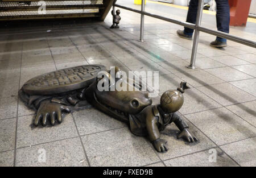
POLYGON ((73 113, 80 135, 97 133, 120 127, 127 127, 125 123, 111 118, 93 107, 73 113))

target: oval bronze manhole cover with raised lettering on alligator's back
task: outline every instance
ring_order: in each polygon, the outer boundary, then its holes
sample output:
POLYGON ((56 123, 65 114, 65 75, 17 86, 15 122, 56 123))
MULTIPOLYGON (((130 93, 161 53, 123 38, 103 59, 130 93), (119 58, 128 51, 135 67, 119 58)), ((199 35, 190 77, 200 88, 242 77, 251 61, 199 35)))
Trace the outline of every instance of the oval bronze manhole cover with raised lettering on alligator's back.
POLYGON ((29 95, 51 95, 84 88, 96 80, 97 73, 105 71, 104 65, 81 65, 61 69, 28 80, 23 91, 29 95))

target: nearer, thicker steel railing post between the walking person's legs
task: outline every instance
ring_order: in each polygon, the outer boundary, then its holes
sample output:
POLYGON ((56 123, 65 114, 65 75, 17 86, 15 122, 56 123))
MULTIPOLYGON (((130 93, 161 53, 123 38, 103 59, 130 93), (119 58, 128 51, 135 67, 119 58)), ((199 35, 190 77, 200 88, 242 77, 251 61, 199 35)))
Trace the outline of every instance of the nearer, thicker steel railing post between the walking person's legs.
POLYGON ((196 63, 196 52, 197 52, 197 45, 199 41, 199 29, 198 27, 201 24, 201 18, 203 14, 203 8, 204 8, 204 0, 199 0, 198 2, 198 8, 197 8, 197 15, 196 15, 196 28, 195 28, 195 35, 193 40, 193 48, 191 53, 191 61, 190 65, 188 65, 188 68, 195 69, 195 63, 196 63))

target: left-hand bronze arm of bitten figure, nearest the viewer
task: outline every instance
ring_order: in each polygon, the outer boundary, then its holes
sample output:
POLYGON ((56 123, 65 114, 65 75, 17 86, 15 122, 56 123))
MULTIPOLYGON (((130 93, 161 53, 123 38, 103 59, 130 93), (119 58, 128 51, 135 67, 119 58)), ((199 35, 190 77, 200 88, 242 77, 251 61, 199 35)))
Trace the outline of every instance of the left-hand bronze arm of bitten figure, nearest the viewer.
POLYGON ((160 133, 158 130, 158 118, 152 115, 146 117, 146 128, 150 141, 153 143, 156 151, 165 152, 167 151, 166 140, 160 139, 160 133))

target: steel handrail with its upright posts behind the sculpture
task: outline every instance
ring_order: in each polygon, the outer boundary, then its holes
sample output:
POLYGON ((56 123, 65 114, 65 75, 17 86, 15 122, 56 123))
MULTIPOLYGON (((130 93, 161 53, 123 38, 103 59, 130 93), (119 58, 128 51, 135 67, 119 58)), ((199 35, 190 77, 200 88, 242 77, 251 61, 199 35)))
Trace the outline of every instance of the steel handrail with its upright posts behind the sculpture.
POLYGON ((195 69, 196 68, 195 67, 195 62, 196 62, 197 45, 198 45, 198 42, 199 42, 199 32, 200 31, 205 32, 205 33, 210 34, 210 35, 219 36, 221 38, 225 38, 225 39, 231 40, 233 42, 241 43, 241 44, 248 45, 250 47, 256 48, 256 42, 254 42, 254 41, 247 40, 247 39, 244 39, 244 38, 240 38, 239 36, 230 35, 230 34, 227 34, 225 32, 221 32, 221 31, 217 31, 217 30, 212 30, 210 28, 205 28, 205 27, 200 26, 201 16, 203 14, 203 7, 204 7, 203 6, 203 4, 204 4, 203 0, 199 0, 198 9, 197 9, 197 16, 196 16, 196 24, 188 23, 188 22, 181 22, 179 20, 175 20, 175 19, 171 19, 171 18, 166 18, 164 16, 147 13, 147 12, 144 11, 144 5, 145 5, 144 2, 145 2, 145 0, 142 0, 141 11, 140 10, 136 10, 136 9, 132 9, 130 7, 125 7, 125 6, 117 5, 117 4, 115 4, 115 2, 113 3, 113 8, 114 7, 119 7, 119 8, 122 8, 122 9, 126 9, 126 10, 129 10, 129 11, 133 11, 135 13, 141 14, 141 35, 140 35, 140 39, 139 39, 141 42, 144 41, 144 39, 143 39, 143 34, 144 34, 144 15, 151 16, 151 17, 156 18, 156 19, 165 20, 167 22, 179 24, 181 26, 194 29, 195 30, 195 35, 194 35, 194 39, 193 39, 191 61, 190 61, 190 65, 188 66, 188 68, 191 68, 191 69, 195 69))

